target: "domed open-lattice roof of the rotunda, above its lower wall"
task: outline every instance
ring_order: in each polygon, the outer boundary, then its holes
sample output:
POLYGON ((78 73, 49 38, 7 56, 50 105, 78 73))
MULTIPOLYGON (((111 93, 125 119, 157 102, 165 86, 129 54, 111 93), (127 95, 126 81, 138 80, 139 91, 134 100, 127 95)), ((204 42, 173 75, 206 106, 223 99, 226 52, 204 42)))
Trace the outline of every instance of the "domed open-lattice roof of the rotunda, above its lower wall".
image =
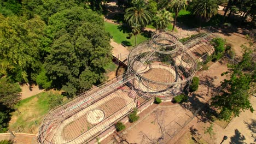
POLYGON ((128 65, 140 79, 159 85, 187 82, 197 68, 188 50, 170 32, 155 32, 152 39, 139 44, 130 52, 128 65))

